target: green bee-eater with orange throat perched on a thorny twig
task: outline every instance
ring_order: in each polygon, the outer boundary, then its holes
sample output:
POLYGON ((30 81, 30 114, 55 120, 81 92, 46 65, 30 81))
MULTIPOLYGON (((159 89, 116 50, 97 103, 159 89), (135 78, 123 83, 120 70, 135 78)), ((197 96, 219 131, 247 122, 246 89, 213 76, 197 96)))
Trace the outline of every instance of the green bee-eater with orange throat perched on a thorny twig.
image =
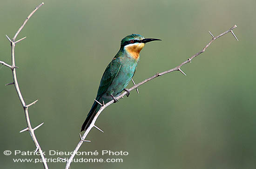
MULTIPOLYGON (((122 91, 127 91, 125 87, 128 85, 134 76, 136 67, 140 59, 141 49, 145 43, 160 39, 145 39, 139 34, 131 34, 121 40, 121 47, 112 61, 108 64, 101 78, 101 83, 97 92, 96 99, 100 103, 108 103, 114 99, 117 102, 122 91)), ((86 130, 91 124, 97 111, 101 105, 94 101, 94 104, 89 111, 85 122, 81 127, 81 131, 86 130)))

